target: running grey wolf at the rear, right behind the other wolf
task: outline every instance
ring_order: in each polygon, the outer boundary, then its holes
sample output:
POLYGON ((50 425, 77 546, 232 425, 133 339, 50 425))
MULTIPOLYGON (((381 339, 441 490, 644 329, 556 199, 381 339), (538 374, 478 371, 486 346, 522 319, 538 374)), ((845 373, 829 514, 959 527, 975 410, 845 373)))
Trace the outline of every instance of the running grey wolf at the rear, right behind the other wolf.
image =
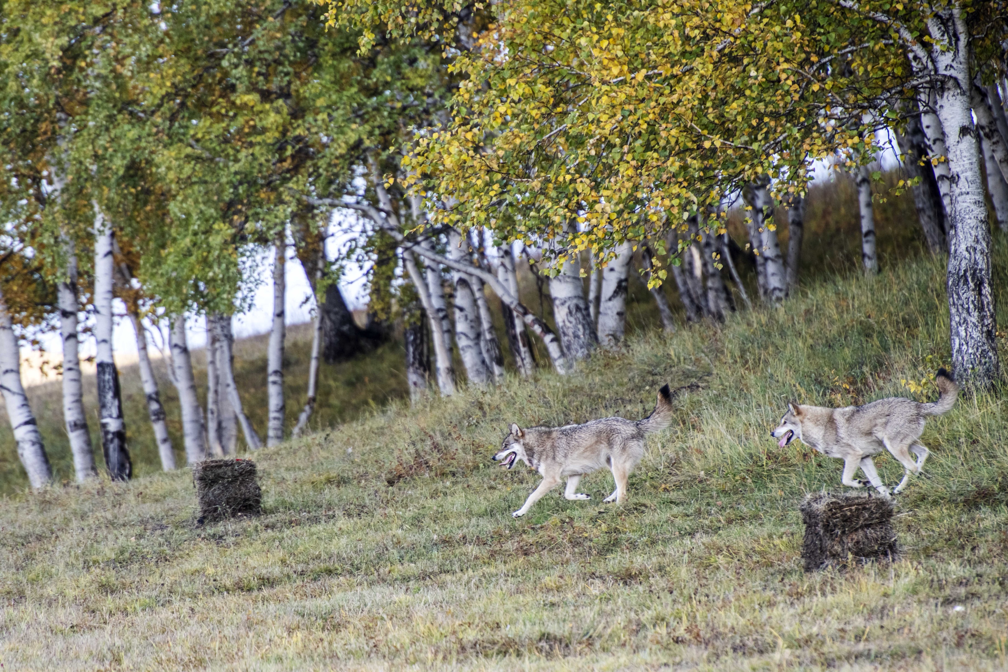
POLYGON ((779 438, 781 446, 797 437, 826 455, 843 459, 845 486, 861 488, 865 485, 854 480, 860 466, 871 485, 888 497, 889 489, 882 484, 872 456, 885 448, 905 467, 903 480, 893 493, 902 492, 911 474, 920 474, 928 454, 927 448, 919 442, 924 421, 927 416, 952 410, 959 395, 959 386, 944 369, 938 369, 934 383, 940 396, 937 401, 926 404, 902 397, 846 408, 789 403, 780 424, 770 435, 779 438), (911 452, 916 460, 910 456, 911 452))

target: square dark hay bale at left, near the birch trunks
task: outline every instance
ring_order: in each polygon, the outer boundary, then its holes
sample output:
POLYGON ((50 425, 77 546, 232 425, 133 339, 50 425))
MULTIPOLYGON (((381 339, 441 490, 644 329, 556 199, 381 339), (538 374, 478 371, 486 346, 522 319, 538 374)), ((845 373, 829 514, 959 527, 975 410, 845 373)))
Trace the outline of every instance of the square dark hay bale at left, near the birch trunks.
POLYGON ((199 524, 262 513, 262 491, 251 459, 207 459, 193 466, 199 524))

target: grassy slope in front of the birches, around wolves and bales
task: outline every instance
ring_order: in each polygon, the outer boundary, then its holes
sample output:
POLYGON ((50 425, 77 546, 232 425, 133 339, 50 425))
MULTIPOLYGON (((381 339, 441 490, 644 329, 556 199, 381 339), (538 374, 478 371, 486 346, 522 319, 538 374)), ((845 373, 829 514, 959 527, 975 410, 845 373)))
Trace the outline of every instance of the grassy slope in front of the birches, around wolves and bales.
MULTIPOLYGON (((1002 324, 1006 265, 1002 240, 1002 324)), ((8 497, 0 663, 1004 669, 1004 390, 928 422, 928 474, 899 499, 892 564, 802 573, 797 503, 839 489, 841 462, 767 436, 788 398, 909 395, 902 379, 947 364, 942 278, 929 258, 886 264, 721 327, 635 335, 569 377, 393 400, 256 453, 253 520, 198 526, 185 469, 8 497), (702 389, 649 439, 628 503, 600 503, 600 473, 582 482, 591 502, 554 492, 511 518, 538 478, 490 463, 506 423, 638 417, 664 382, 702 389)), ((898 479, 890 456, 878 464, 898 479)))

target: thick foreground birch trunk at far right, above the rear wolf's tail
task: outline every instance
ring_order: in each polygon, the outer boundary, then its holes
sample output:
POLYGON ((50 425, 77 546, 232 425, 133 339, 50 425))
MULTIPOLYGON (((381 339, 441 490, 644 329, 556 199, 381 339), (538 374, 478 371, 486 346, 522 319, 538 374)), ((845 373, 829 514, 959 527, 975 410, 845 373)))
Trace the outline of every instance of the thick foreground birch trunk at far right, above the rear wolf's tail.
POLYGON ((970 99, 969 29, 954 8, 961 43, 934 51, 949 80, 937 92, 936 113, 944 129, 951 173, 949 219, 949 311, 956 380, 989 388, 1000 378, 997 322, 991 286, 991 233, 987 223, 980 147, 970 99))

